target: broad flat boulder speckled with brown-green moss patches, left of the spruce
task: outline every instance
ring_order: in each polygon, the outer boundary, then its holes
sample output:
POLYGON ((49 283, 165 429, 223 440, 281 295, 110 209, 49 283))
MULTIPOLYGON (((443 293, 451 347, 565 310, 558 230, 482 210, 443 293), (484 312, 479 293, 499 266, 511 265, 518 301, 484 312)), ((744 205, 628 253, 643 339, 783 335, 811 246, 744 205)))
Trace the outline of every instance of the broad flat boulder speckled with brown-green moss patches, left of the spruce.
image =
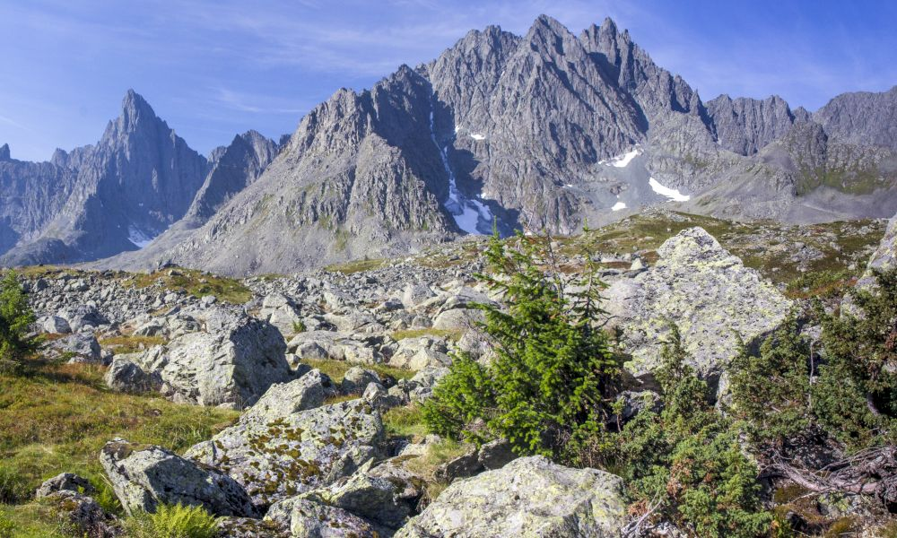
POLYGON ((221 468, 268 506, 352 474, 382 439, 379 412, 359 399, 276 419, 246 413, 187 457, 221 468))

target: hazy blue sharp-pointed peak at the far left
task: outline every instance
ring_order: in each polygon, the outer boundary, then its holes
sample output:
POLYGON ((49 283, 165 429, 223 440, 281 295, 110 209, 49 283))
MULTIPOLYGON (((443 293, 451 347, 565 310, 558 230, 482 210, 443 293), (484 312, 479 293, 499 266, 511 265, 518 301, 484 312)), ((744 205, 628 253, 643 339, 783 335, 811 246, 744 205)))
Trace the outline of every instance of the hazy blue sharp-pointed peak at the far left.
POLYGON ((78 262, 141 247, 184 216, 207 168, 134 91, 100 142, 74 153, 54 157, 77 169, 65 204, 42 214, 38 237, 20 241, 4 263, 78 262))

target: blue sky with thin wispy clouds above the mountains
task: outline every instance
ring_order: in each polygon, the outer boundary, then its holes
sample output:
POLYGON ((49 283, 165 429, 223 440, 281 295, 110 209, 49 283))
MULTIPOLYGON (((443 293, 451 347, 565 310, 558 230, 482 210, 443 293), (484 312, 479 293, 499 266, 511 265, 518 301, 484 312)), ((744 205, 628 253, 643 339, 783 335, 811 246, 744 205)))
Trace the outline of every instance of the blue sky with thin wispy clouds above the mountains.
POLYGON ((778 93, 812 111, 897 84, 888 0, 0 0, 0 143, 36 161, 94 143, 128 88, 199 152, 250 128, 276 138, 342 86, 539 13, 575 33, 611 16, 704 100, 778 93))

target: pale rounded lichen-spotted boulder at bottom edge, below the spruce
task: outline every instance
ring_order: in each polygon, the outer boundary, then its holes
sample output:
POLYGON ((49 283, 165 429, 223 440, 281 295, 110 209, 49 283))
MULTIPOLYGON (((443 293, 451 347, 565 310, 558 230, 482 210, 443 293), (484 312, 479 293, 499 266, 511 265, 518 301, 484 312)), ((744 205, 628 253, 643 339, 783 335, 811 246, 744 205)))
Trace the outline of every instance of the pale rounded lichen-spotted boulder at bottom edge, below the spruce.
POLYGON ((626 519, 621 488, 610 473, 523 457, 452 483, 396 538, 610 538, 626 519))

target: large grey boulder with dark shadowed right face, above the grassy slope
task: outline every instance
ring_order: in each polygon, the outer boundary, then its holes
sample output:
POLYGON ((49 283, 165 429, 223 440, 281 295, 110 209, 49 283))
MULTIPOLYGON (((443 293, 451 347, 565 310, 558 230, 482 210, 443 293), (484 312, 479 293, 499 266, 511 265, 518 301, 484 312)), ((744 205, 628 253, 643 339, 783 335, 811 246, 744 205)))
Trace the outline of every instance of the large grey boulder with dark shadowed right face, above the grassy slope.
POLYGON ((239 308, 212 308, 205 331, 129 359, 158 372, 163 395, 187 404, 240 409, 255 404, 272 384, 292 379, 283 335, 239 308))

